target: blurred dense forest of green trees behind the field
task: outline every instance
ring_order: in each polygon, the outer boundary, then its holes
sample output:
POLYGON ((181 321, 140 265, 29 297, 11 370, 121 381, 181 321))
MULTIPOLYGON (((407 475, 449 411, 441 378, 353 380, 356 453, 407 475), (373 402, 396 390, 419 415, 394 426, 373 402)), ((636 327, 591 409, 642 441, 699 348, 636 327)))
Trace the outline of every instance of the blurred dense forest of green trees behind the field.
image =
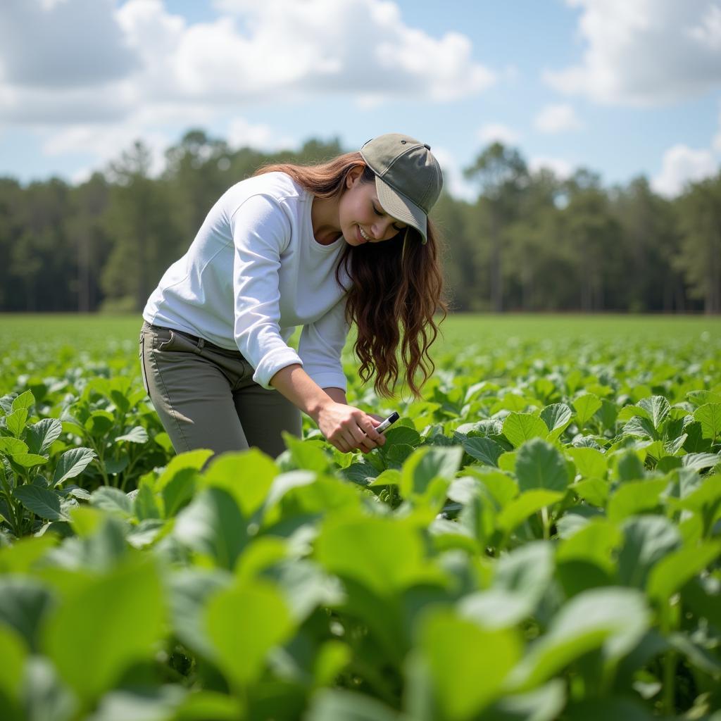
MULTIPOLYGON (((227 187, 343 151, 233 151, 194 130, 159 177, 138 141, 81 185, 0 178, 0 311, 138 311, 227 187)), ((667 200, 645 177, 607 188, 589 169, 531 172, 500 143, 464 172, 477 201, 444 191, 433 209, 451 309, 721 311, 721 172, 667 200)))

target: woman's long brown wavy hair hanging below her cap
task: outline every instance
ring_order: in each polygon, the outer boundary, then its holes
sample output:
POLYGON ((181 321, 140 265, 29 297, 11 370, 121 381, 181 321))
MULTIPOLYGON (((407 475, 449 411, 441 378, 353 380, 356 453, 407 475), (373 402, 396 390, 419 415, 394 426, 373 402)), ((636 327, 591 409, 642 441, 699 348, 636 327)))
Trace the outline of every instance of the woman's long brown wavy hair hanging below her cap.
MULTIPOLYGON (((333 198, 345 192, 348 173, 365 166, 361 182, 374 182, 376 175, 360 153, 345 153, 318 165, 272 164, 256 175, 286 173, 313 195, 333 198)), ((363 382, 375 373, 373 387, 381 397, 392 397, 399 376, 415 398, 435 369, 428 349, 438 336, 433 316, 448 313, 444 301, 443 275, 438 235, 430 219, 428 242, 421 244, 418 231, 408 227, 382 243, 346 245, 335 271, 338 283, 345 269, 351 280, 346 288, 345 317, 355 323, 358 335, 353 350, 361 361, 358 370, 363 382), (399 371, 402 361, 404 373, 399 371), (420 373, 420 382, 416 381, 420 373)), ((439 321, 439 322, 441 322, 439 321)))

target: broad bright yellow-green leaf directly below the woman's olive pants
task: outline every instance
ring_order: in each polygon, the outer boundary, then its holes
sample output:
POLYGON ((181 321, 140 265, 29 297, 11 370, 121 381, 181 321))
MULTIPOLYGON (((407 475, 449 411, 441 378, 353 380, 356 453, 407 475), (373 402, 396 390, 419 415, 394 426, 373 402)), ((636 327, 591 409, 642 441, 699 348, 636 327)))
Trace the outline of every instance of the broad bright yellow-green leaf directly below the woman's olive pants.
POLYGON ((258 448, 250 448, 213 459, 203 473, 201 484, 229 492, 244 516, 249 517, 260 508, 278 474, 278 466, 270 456, 258 448))

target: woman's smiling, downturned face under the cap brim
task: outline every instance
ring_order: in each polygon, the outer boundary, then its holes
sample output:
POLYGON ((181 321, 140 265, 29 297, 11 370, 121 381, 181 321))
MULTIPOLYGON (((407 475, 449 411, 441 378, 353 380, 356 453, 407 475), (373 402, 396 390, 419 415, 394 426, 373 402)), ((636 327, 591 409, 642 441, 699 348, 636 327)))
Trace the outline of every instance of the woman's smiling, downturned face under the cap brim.
POLYGON ((389 216, 381 206, 374 182, 361 182, 363 168, 348 173, 346 190, 340 197, 340 230, 349 245, 380 243, 407 226, 389 216))

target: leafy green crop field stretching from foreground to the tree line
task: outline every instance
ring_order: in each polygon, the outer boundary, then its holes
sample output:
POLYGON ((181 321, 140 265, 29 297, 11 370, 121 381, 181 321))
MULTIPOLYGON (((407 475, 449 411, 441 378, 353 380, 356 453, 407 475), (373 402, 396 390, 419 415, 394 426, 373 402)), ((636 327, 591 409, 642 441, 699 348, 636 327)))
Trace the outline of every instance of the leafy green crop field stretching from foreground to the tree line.
POLYGON ((345 356, 384 447, 208 464, 140 325, 0 316, 0 719, 721 721, 721 319, 451 317, 345 356))

